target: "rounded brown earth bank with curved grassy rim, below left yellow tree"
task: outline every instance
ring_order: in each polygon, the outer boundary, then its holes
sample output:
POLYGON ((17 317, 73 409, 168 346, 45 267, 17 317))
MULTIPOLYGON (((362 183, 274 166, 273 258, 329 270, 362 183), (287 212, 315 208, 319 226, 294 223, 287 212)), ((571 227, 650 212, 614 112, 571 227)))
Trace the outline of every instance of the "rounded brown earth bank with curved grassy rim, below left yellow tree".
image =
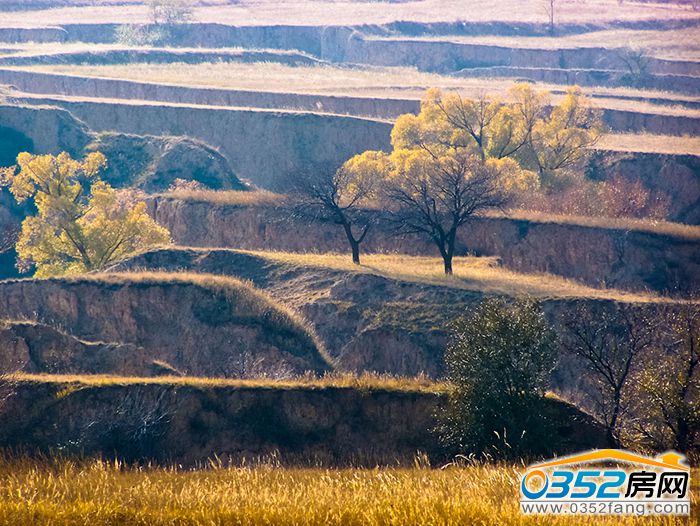
POLYGON ((90 341, 130 343, 193 375, 322 372, 329 365, 298 318, 238 280, 119 274, 0 282, 0 318, 90 341))

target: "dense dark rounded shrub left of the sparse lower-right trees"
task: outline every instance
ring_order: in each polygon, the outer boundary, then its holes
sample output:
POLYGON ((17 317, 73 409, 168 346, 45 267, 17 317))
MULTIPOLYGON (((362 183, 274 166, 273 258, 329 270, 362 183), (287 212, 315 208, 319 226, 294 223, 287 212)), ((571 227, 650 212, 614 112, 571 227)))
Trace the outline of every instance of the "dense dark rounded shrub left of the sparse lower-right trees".
POLYGON ((543 416, 554 341, 531 300, 488 299, 454 322, 445 355, 453 389, 439 428, 448 449, 519 458, 556 448, 543 416))

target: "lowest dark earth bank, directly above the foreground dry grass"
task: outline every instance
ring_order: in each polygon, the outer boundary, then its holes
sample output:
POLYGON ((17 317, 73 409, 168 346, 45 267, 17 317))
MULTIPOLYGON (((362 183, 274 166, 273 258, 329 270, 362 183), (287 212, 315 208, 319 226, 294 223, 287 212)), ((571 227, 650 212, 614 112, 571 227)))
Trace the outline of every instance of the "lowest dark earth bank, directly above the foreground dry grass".
MULTIPOLYGON (((0 413, 0 445, 192 465, 279 453, 287 464, 410 464, 442 453, 432 433, 439 393, 269 386, 168 385, 115 379, 103 385, 26 379, 0 413)), ((596 447, 590 417, 550 400, 560 453, 596 447)))

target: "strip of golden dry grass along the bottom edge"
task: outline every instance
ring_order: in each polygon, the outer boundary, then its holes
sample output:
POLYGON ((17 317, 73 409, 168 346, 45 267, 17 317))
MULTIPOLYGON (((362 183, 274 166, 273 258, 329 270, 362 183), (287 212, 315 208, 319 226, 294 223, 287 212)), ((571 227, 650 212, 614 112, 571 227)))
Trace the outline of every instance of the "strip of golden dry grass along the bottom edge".
MULTIPOLYGON (((0 458, 0 525, 608 525, 636 517, 521 515, 519 469, 291 469, 259 465, 199 470, 114 462, 0 458)), ((691 488, 692 522, 700 487, 691 488)), ((651 518, 647 525, 687 524, 651 518)))

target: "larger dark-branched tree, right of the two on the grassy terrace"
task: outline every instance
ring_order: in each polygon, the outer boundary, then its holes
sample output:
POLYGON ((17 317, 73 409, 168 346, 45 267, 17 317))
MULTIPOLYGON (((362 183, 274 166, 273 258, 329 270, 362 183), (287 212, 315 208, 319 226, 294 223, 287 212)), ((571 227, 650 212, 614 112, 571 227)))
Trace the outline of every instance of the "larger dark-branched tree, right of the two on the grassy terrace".
POLYGON ((466 151, 438 156, 421 176, 407 174, 386 181, 384 194, 393 205, 390 220, 407 234, 426 235, 442 256, 445 274, 452 274, 457 233, 472 216, 500 208, 507 196, 497 170, 466 151))

